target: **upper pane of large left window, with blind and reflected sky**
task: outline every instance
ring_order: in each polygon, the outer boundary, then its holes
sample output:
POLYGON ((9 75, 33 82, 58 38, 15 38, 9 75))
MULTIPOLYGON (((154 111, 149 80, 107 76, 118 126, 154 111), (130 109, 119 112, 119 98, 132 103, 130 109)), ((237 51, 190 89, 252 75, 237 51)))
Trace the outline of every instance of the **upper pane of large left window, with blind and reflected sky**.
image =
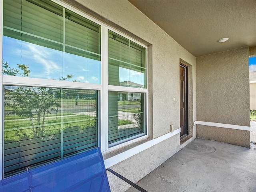
POLYGON ((10 68, 24 64, 30 77, 72 75, 73 81, 100 84, 98 24, 51 1, 5 0, 3 31, 3 60, 10 68))

